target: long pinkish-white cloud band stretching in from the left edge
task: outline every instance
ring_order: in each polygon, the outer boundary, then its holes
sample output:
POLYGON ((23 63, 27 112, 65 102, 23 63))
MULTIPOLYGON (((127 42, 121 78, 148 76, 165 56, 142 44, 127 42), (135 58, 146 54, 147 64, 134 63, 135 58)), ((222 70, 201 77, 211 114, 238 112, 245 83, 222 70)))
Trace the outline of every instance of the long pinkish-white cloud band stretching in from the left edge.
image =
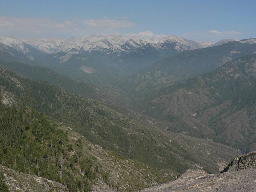
MULTIPOLYGON (((86 32, 111 32, 121 28, 134 26, 127 17, 109 19, 73 19, 63 22, 53 21, 50 18, 19 18, 0 16, 0 33, 12 35, 14 32, 21 35, 38 33, 66 33, 71 35, 87 35, 86 32), (84 34, 85 33, 85 34, 84 34)), ((27 35, 26 35, 27 36, 27 35)))

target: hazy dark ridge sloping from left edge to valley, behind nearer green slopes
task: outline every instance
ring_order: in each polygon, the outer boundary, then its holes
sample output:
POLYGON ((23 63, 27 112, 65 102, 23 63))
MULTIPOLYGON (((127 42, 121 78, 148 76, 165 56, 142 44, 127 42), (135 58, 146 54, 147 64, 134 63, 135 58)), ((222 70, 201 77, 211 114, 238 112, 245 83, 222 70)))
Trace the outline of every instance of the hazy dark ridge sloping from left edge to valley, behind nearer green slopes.
POLYGON ((79 75, 69 77, 45 67, 21 62, 0 61, 0 66, 26 78, 47 81, 52 85, 75 93, 81 97, 108 103, 110 107, 112 107, 112 105, 128 106, 130 103, 129 98, 121 90, 111 85, 106 85, 97 79, 83 79, 80 78, 79 75), (87 82, 90 82, 90 84, 87 82))

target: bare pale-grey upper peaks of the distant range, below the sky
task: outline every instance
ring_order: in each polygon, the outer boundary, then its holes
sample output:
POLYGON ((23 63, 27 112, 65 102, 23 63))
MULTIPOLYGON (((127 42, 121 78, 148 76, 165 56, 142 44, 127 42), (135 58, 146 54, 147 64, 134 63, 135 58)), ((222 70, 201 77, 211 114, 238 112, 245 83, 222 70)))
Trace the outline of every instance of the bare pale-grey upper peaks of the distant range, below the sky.
POLYGON ((184 51, 190 49, 203 48, 213 43, 201 43, 178 37, 175 35, 161 39, 140 38, 132 36, 130 38, 122 35, 90 35, 88 37, 73 37, 67 39, 22 39, 25 43, 35 47, 45 53, 57 53, 60 51, 69 52, 74 49, 81 52, 102 52, 106 54, 124 54, 135 51, 145 45, 152 46, 158 51, 170 48, 168 43, 175 44, 173 49, 184 51))

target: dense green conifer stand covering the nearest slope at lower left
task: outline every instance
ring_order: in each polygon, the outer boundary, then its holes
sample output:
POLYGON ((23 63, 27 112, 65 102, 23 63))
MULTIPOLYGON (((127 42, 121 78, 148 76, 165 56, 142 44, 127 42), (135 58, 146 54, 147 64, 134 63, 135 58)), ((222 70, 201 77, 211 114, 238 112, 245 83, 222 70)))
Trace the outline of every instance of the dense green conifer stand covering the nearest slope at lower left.
POLYGON ((67 132, 35 110, 1 103, 0 124, 2 166, 61 182, 70 191, 90 191, 98 175, 108 179, 96 158, 82 157, 81 141, 74 151, 67 132))

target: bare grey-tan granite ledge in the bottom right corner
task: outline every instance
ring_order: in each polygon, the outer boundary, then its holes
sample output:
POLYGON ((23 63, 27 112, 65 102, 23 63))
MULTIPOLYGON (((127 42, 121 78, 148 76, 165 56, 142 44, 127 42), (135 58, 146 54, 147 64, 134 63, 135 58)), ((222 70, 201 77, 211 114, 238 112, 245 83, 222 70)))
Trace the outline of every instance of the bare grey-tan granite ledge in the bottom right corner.
POLYGON ((187 170, 175 181, 140 191, 256 191, 256 152, 234 158, 219 174, 187 170))

